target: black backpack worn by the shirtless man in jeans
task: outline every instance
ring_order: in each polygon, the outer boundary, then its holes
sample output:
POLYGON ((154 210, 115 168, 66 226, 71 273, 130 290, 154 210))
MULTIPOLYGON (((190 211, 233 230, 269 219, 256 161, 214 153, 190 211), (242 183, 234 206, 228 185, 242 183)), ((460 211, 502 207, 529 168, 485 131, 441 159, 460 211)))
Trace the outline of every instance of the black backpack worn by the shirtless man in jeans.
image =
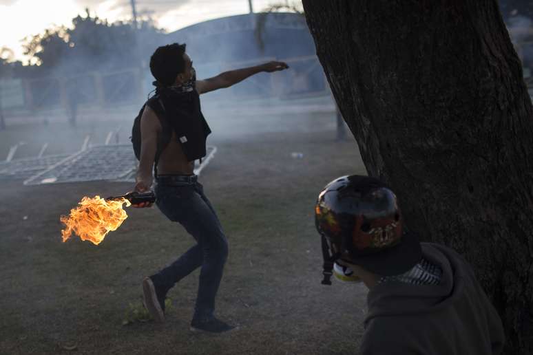
POLYGON ((134 125, 132 127, 132 136, 130 137, 130 139, 132 140, 135 158, 137 158, 137 160, 140 160, 140 118, 143 116, 143 111, 145 111, 145 107, 148 104, 149 107, 156 112, 156 116, 159 118, 161 127, 163 127, 163 131, 161 134, 158 134, 157 139, 156 159, 154 164, 154 170, 156 170, 159 155, 161 154, 163 149, 165 149, 165 147, 167 147, 167 145, 169 144, 172 135, 171 127, 169 126, 167 119, 165 118, 165 107, 163 106, 163 102, 157 95, 149 98, 149 100, 139 110, 138 115, 134 119, 134 125))

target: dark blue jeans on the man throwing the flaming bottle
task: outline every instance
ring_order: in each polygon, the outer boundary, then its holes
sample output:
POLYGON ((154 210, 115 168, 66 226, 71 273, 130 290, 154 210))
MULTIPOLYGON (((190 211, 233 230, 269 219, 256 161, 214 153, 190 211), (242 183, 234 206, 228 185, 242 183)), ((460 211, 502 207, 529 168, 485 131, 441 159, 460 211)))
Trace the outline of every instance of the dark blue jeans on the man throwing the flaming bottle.
POLYGON ((197 244, 151 278, 156 287, 167 292, 176 282, 201 266, 194 319, 211 319, 228 255, 222 226, 199 182, 156 181, 158 208, 172 222, 179 222, 185 227, 197 244))

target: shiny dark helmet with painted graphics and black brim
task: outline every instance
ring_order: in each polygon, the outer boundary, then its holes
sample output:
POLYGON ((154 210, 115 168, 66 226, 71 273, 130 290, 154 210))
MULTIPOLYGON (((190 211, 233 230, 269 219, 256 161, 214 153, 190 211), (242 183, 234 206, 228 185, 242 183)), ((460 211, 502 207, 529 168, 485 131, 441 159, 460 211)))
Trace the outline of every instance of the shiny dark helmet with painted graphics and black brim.
POLYGON ((406 237, 395 193, 375 177, 343 176, 327 184, 315 204, 315 226, 323 239, 324 277, 328 257, 379 275, 397 275, 421 257, 418 241, 406 237))

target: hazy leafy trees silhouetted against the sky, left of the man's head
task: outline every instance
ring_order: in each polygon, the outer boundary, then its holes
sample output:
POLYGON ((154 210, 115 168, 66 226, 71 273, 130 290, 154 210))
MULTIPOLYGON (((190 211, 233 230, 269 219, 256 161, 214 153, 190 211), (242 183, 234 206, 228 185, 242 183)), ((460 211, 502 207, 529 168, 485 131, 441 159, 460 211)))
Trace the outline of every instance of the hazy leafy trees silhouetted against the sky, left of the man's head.
POLYGON ((135 29, 131 22, 108 23, 86 9, 84 17, 72 19, 71 28, 50 28, 30 36, 24 47, 25 54, 31 57, 30 63, 36 65, 33 74, 79 74, 137 67, 138 52, 145 47, 153 51, 154 38, 162 35, 163 30, 156 28, 149 18, 138 21, 135 29))

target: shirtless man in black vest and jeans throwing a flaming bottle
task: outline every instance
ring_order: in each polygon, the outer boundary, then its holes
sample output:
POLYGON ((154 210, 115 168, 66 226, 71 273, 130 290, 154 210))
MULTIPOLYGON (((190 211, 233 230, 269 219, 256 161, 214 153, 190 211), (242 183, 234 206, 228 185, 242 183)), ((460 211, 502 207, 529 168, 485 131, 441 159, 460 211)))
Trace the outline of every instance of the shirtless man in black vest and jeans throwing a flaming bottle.
POLYGON ((147 101, 140 119, 140 163, 135 190, 150 189, 156 164, 158 208, 171 221, 182 224, 197 242, 170 266, 143 280, 145 306, 156 321, 165 319, 167 292, 201 266, 191 330, 221 333, 233 329, 213 314, 228 245, 215 210, 194 175, 194 161, 206 155, 205 142, 211 133, 200 111, 199 94, 230 87, 260 72, 286 68, 286 63, 274 61, 196 80, 185 44, 158 47, 151 56, 156 95, 147 101), (167 134, 171 136, 168 143, 162 139, 167 134))

